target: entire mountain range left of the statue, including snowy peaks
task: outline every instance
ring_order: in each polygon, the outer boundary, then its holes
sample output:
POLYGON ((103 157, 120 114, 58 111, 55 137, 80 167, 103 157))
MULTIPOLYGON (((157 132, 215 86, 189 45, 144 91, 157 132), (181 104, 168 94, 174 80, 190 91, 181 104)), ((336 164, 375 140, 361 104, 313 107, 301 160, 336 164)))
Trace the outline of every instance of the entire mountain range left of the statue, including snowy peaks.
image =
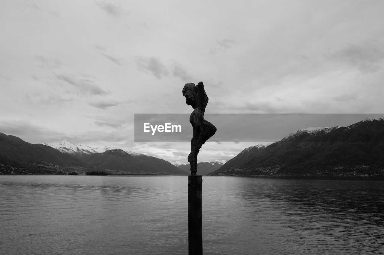
POLYGON ((66 174, 94 170, 113 174, 187 175, 166 160, 137 152, 113 147, 94 148, 65 140, 50 145, 30 144, 0 133, 0 174, 66 174))

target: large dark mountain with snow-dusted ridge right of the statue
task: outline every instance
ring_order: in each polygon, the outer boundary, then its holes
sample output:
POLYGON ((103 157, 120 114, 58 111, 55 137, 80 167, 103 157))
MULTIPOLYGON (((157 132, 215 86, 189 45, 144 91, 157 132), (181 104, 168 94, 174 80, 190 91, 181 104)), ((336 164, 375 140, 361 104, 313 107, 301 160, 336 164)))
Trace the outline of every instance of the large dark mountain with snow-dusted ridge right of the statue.
POLYGON ((300 129, 262 150, 247 148, 212 175, 384 176, 383 151, 384 118, 370 118, 300 129))

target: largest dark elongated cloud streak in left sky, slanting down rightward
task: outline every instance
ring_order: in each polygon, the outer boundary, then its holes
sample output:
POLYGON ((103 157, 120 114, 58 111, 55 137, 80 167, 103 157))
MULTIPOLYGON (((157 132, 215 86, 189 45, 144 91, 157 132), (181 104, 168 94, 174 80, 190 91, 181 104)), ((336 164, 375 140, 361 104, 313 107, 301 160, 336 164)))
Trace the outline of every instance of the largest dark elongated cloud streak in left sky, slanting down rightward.
POLYGON ((110 93, 109 91, 103 90, 98 85, 94 84, 92 80, 76 79, 76 78, 70 77, 69 75, 64 75, 64 74, 56 74, 56 78, 58 78, 58 80, 66 82, 72 85, 73 87, 77 88, 78 91, 82 94, 106 95, 110 93))

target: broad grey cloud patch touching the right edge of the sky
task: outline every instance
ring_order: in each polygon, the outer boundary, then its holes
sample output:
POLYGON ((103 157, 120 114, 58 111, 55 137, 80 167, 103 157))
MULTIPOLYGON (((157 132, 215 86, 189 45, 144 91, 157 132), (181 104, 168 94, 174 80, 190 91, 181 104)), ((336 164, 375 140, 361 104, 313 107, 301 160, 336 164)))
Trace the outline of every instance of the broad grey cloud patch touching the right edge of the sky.
POLYGON ((326 58, 344 62, 361 72, 374 73, 382 69, 384 45, 379 41, 348 44, 339 51, 327 54, 326 58))

